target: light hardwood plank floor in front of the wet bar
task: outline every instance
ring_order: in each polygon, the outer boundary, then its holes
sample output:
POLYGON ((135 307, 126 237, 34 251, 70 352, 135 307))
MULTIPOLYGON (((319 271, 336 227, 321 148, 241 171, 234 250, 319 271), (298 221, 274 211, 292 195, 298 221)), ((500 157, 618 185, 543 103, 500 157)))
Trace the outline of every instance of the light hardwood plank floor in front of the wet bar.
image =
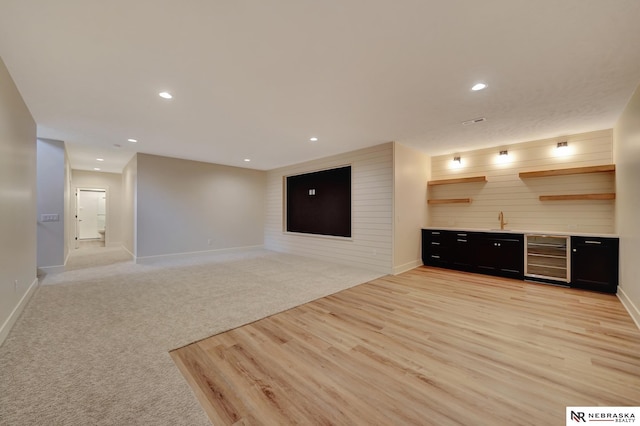
POLYGON ((640 405, 613 295, 420 267, 171 353, 214 425, 564 425, 640 405))

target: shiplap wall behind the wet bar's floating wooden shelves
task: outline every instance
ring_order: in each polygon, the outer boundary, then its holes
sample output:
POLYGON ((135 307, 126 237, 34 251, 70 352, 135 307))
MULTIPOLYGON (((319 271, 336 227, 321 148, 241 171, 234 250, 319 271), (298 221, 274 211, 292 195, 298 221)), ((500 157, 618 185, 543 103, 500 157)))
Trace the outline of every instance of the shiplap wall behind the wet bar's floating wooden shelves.
POLYGON ((540 201, 540 195, 615 192, 615 176, 593 173, 520 179, 519 172, 596 166, 613 163, 612 130, 504 145, 432 157, 431 180, 485 175, 486 183, 430 186, 429 199, 471 198, 470 204, 430 204, 429 225, 506 229, 614 233, 615 201, 540 201), (558 156, 557 142, 567 141, 569 153, 558 156), (499 150, 508 162, 499 162, 499 150), (462 166, 453 168, 453 156, 462 166))

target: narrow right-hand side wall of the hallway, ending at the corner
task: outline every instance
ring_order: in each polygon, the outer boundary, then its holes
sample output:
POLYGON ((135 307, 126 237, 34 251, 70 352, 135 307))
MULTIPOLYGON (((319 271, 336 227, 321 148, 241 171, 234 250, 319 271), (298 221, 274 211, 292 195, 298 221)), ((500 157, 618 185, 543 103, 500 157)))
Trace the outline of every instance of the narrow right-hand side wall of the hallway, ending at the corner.
POLYGON ((138 155, 122 170, 122 246, 136 259, 138 155))

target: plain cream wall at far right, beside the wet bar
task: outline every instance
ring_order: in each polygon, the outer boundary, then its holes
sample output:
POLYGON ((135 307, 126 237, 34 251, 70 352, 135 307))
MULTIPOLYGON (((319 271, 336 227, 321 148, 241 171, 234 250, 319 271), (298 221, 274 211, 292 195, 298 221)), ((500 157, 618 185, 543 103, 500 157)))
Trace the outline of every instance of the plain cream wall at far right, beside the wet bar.
POLYGON ((616 232, 620 235, 618 297, 640 327, 640 86, 614 128, 616 232))

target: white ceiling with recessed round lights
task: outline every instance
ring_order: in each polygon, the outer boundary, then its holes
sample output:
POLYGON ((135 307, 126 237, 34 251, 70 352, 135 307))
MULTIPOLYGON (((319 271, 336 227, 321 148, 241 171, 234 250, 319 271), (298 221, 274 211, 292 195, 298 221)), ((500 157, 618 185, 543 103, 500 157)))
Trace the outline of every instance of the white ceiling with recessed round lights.
POLYGON ((116 172, 135 151, 268 170, 611 128, 639 42, 638 0, 0 0, 38 136, 116 172))

